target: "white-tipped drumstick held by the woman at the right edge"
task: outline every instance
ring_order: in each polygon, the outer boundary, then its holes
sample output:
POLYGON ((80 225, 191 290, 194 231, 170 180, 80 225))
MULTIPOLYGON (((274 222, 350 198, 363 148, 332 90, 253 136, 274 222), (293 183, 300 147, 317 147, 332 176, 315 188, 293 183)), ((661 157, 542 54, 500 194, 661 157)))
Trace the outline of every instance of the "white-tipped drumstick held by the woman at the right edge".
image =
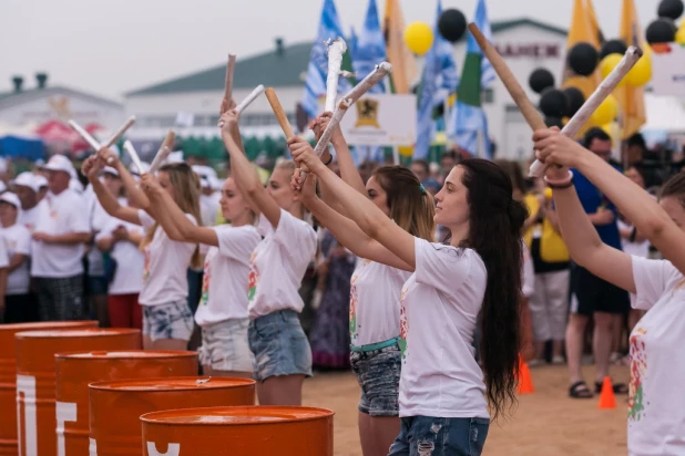
MULTIPOLYGON (((596 111, 597 107, 602 104, 602 102, 614 91, 616 85, 621 82, 623 77, 631 71, 631 69, 637 63, 640 58, 642 56, 642 50, 635 46, 630 46, 623 59, 616 68, 606 76, 604 81, 595 89, 595 91, 590 95, 590 97, 583 103, 580 110, 571 117, 571 120, 564 125, 561 133, 569 137, 575 136, 575 134, 581 129, 581 127, 587 122, 592 113, 596 111)), ((529 173, 531 176, 540 177, 542 173, 544 173, 544 163, 536 159, 531 165, 529 173)))

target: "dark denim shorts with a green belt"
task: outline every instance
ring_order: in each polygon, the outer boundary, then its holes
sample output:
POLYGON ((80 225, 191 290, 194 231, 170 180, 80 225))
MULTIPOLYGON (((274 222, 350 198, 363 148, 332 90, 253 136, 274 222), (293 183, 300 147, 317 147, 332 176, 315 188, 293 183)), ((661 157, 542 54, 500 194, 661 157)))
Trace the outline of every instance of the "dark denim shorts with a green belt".
POLYGON ((399 416, 401 356, 398 344, 350 354, 352 370, 361 387, 359 412, 370 416, 399 416))

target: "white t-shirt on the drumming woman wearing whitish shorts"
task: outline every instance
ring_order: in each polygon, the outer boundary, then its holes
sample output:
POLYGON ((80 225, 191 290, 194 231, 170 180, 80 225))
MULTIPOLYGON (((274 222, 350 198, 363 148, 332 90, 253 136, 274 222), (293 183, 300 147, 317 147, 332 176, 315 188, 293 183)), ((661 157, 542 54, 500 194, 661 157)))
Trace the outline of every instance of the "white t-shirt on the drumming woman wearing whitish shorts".
POLYGON ((195 322, 201 327, 247 318, 249 257, 262 240, 252 225, 219 225, 213 229, 218 248, 211 247, 205 256, 202 297, 195 312, 195 322))

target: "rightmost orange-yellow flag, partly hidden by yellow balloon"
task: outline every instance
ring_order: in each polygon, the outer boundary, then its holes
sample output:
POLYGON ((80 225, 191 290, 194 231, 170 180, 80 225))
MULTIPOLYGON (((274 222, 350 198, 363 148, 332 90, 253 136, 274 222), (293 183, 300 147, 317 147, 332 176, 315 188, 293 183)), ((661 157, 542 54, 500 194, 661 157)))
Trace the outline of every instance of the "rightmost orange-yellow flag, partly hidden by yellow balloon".
MULTIPOLYGON (((620 38, 627 45, 636 45, 643 51, 646 50, 633 0, 623 0, 620 38)), ((643 55, 643 59, 647 59, 647 56, 643 55)), ((622 138, 627 139, 640 131, 647 118, 645 113, 645 91, 644 87, 624 84, 614 91, 614 95, 618 101, 618 106, 621 106, 622 138)))

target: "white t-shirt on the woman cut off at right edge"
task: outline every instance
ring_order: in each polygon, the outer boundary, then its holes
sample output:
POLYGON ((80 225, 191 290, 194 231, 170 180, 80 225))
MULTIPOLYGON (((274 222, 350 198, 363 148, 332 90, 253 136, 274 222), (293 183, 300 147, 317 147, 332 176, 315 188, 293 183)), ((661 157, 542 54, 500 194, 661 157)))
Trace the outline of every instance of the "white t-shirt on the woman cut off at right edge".
POLYGON ((685 455, 685 277, 665 260, 633 256, 628 453, 685 455))

